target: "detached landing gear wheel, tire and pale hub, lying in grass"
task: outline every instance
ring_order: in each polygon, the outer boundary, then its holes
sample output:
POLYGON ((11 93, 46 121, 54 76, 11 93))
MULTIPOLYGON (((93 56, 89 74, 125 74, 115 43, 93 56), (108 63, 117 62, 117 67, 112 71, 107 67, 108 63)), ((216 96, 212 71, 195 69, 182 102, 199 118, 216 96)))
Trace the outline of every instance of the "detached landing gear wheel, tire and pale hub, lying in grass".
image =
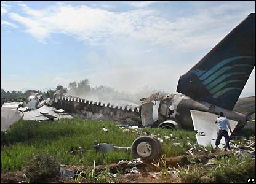
POLYGON ((134 158, 156 159, 161 155, 161 152, 161 144, 153 136, 141 136, 132 143, 132 155, 134 158))

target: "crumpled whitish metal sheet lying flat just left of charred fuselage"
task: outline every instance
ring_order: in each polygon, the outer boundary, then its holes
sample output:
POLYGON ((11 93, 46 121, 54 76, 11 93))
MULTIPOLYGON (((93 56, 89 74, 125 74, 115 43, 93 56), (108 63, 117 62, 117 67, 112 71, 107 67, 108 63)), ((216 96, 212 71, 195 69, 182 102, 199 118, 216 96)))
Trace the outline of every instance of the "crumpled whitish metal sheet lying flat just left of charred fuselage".
POLYGON ((58 120, 60 118, 73 118, 68 113, 55 113, 54 111, 57 110, 54 107, 49 106, 42 106, 39 109, 31 110, 29 112, 24 113, 23 120, 58 120), (56 118, 54 118, 56 117, 56 118))

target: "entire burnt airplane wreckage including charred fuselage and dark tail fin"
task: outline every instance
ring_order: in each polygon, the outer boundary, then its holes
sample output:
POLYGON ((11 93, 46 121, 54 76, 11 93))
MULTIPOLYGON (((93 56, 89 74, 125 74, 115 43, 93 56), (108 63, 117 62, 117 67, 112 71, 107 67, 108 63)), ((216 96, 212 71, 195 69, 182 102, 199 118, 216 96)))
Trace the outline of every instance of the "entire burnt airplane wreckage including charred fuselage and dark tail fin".
POLYGON ((255 13, 251 13, 180 77, 178 94, 153 94, 142 98, 139 107, 114 107, 109 103, 55 96, 54 106, 86 118, 93 114, 98 118, 144 127, 194 129, 198 131, 199 144, 215 146, 213 139, 217 137, 218 127, 214 122, 218 112, 223 112, 230 120, 232 131, 241 129, 255 113, 255 97, 238 101, 254 66, 255 13), (242 112, 242 105, 249 107, 249 111, 242 112))

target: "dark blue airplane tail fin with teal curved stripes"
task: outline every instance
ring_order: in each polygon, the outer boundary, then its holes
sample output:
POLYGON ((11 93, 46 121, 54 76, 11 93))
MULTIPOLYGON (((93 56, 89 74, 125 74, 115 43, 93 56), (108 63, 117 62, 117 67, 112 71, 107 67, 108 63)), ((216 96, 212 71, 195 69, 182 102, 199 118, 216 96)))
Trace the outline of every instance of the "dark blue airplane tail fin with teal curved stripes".
POLYGON ((255 66, 255 13, 180 77, 177 92, 232 110, 255 66))

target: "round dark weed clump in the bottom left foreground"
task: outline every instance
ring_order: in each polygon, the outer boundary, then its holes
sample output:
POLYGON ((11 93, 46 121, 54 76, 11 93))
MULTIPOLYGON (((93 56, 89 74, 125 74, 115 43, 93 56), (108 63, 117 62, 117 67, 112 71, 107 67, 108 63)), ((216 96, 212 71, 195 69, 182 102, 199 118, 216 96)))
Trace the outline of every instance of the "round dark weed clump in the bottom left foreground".
POLYGON ((60 164, 50 155, 37 155, 30 159, 24 173, 30 183, 48 183, 59 177, 60 164))

